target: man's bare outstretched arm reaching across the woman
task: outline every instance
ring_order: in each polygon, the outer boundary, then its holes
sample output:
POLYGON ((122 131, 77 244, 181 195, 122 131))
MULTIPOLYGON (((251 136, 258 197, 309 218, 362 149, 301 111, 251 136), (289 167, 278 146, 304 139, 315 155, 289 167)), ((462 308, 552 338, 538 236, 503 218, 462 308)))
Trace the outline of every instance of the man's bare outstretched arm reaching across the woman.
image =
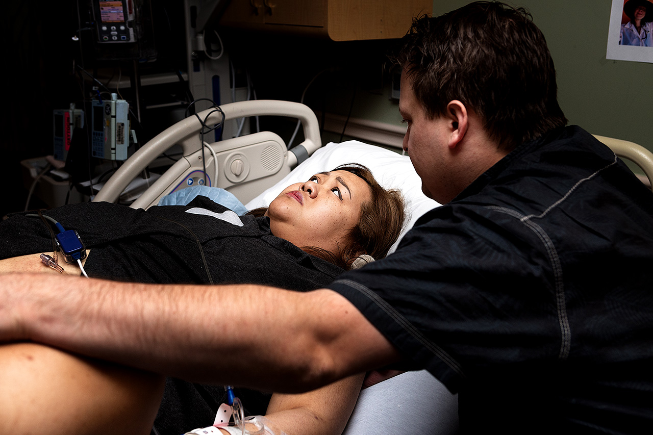
POLYGON ((191 381, 293 393, 399 359, 327 289, 44 274, 7 274, 0 283, 0 340, 33 340, 191 381))

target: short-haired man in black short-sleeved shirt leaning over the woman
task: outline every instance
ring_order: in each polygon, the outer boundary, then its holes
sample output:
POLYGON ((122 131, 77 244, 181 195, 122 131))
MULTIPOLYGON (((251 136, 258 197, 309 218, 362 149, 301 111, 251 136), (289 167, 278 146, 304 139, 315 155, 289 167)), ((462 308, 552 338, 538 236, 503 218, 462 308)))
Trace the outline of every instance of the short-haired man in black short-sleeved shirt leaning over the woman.
POLYGON ((4 276, 0 339, 287 392, 427 368, 459 393, 463 433, 646 432, 653 194, 565 127, 523 10, 478 2, 421 18, 396 61, 404 149, 446 204, 396 253, 311 293, 4 276), (102 306, 96 292, 109 293, 102 306), (116 320, 124 306, 138 315, 116 320))

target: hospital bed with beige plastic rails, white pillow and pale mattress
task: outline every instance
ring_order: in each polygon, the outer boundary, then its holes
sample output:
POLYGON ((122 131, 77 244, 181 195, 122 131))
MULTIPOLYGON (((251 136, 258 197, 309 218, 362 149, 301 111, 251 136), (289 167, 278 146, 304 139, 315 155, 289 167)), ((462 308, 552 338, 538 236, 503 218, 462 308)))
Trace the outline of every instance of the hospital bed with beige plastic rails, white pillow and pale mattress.
MULTIPOLYGON (((94 201, 116 201, 121 191, 145 167, 168 148, 180 144, 183 157, 133 202, 132 207, 153 206, 165 195, 204 180, 206 174, 206 185, 231 191, 247 210, 252 210, 270 204, 283 187, 345 163, 366 165, 381 185, 402 191, 409 217, 402 236, 418 217, 439 206, 423 195, 421 180, 406 155, 357 140, 322 147, 317 118, 304 105, 246 101, 223 105, 221 110, 224 115, 214 109, 205 110, 157 135, 125 162, 94 201), (204 150, 200 149, 200 119, 206 118, 204 123, 208 125, 257 115, 297 118, 306 139, 298 147, 287 150, 285 142, 276 133, 261 132, 220 142, 205 142, 204 150)), ((635 161, 653 182, 653 153, 633 142, 597 138, 620 157, 635 161)), ((390 252, 396 249, 398 242, 390 252)), ((362 435, 380 428, 384 432, 421 432, 424 427, 439 435, 456 433, 457 397, 427 372, 407 372, 363 390, 344 435, 362 435)))

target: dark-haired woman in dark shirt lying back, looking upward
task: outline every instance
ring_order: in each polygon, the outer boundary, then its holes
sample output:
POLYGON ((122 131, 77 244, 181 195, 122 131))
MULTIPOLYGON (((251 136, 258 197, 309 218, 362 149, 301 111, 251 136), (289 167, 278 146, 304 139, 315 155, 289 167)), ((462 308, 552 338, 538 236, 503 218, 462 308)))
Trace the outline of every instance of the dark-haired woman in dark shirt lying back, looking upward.
MULTIPOLYGON (((367 169, 356 165, 321 172, 306 182, 284 189, 264 214, 269 218, 269 225, 268 219, 238 217, 204 197, 197 197, 187 206, 155 207, 148 212, 97 202, 65 206, 44 214, 58 221, 65 229, 75 229, 80 233, 89 248, 88 261, 84 265, 89 276, 138 282, 266 283, 296 291, 326 285, 343 268, 350 268, 360 255, 385 256, 404 221, 400 194, 386 191, 375 182, 367 169)), ((34 216, 10 217, 0 225, 3 257, 13 257, 3 261, 5 271, 7 268, 42 270, 39 253, 52 250, 49 226, 49 223, 46 225, 34 216)), ((5 368, 7 364, 11 366, 11 355, 20 360, 23 355, 40 358, 41 355, 56 353, 34 345, 5 346, 1 351, 0 364, 5 368)), ((111 419, 119 417, 119 421, 113 423, 121 424, 125 424, 126 419, 110 409, 114 403, 109 401, 110 393, 95 398, 99 403, 94 403, 93 399, 89 402, 87 396, 89 386, 93 389, 98 387, 93 371, 104 369, 90 361, 67 361, 65 355, 56 355, 55 361, 61 364, 58 373, 52 370, 50 361, 46 361, 47 370, 59 379, 54 378, 54 382, 46 381, 42 385, 30 385, 29 377, 20 376, 16 378, 21 383, 17 395, 11 399, 13 405, 7 405, 15 406, 26 416, 26 410, 21 409, 25 403, 21 404, 21 400, 34 400, 29 395, 29 387, 37 387, 34 393, 39 396, 43 408, 31 405, 32 411, 46 417, 44 423, 50 422, 49 433, 53 433, 51 424, 57 419, 62 423, 59 428, 74 433, 82 433, 86 425, 97 425, 106 433, 118 433, 115 427, 111 427, 111 419), (71 381, 67 377, 73 374, 76 379, 71 381), (62 376, 65 378, 63 383, 62 376), (56 411, 58 415, 52 415, 53 404, 48 403, 50 393, 42 395, 42 391, 52 391, 52 384, 59 384, 56 393, 52 393, 61 397, 75 391, 78 381, 82 391, 75 392, 76 396, 67 398, 63 403, 59 401, 72 411, 72 415, 66 417, 66 409, 59 409, 56 411), (103 412, 109 415, 102 416, 103 412), (77 417, 79 414, 84 418, 77 417), (85 419, 93 421, 87 422, 85 419), (64 424, 66 421, 68 423, 64 424), (82 426, 71 428, 68 426, 71 421, 82 426)), ((35 364, 39 364, 39 361, 35 361, 35 364)), ((20 368, 16 370, 20 372, 20 368)), ((31 370, 29 368, 27 371, 31 370)), ((0 371, 7 375, 6 370, 0 371)), ((18 376, 18 373, 12 376, 18 376)), ((100 383, 105 381, 97 380, 100 383)), ((295 425, 302 427, 301 433, 340 433, 361 382, 362 379, 357 377, 308 395, 274 395, 268 408, 268 418, 289 434, 293 433, 295 425), (338 400, 334 402, 336 397, 338 400), (318 417, 319 425, 313 430, 311 424, 315 425, 315 417, 318 417)), ((129 385, 123 387, 129 390, 129 385)), ((145 387, 152 388, 150 385, 145 387)), ((224 393, 222 387, 193 385, 172 379, 166 388, 163 409, 155 421, 155 428, 161 434, 180 434, 198 426, 210 425, 216 411, 212 406, 219 405, 224 393), (191 403, 185 402, 188 399, 191 403)), ((11 386, 3 385, 1 391, 3 393, 0 394, 8 395, 11 386)), ((119 393, 120 397, 125 395, 119 393)), ((247 411, 265 411, 267 397, 245 391, 236 393, 247 411)), ((136 397, 138 402, 142 401, 142 396, 136 397)), ((125 410, 130 403, 138 406, 126 400, 121 403, 120 409, 125 410)), ((3 408, 6 413, 8 408, 3 408)), ((144 407, 141 405, 138 408, 143 410, 144 407)), ((131 416, 132 423, 149 417, 151 424, 152 410, 155 408, 150 406, 150 415, 142 413, 140 419, 136 419, 136 415, 131 416)), ((23 418, 20 415, 17 417, 23 418)), ((3 420, 7 423, 7 418, 3 420)), ((7 430, 16 432, 18 427, 15 425, 18 423, 12 422, 14 426, 7 427, 7 430)), ((29 417, 27 423, 31 427, 38 425, 33 417, 29 417)), ((136 433, 136 428, 141 433, 149 432, 148 423, 129 430, 136 433)), ((97 430, 94 433, 98 433, 97 430)))

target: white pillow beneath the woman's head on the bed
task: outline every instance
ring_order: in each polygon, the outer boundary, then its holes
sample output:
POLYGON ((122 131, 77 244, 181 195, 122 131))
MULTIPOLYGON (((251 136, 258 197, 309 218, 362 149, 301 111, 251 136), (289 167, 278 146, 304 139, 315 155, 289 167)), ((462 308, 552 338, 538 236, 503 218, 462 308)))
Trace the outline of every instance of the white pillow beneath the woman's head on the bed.
POLYGON ((400 189, 406 201, 406 227, 389 252, 394 252, 399 240, 413 227, 415 221, 440 204, 428 199, 422 193, 422 181, 413 169, 407 155, 401 155, 380 146, 364 144, 358 140, 348 140, 340 144, 333 142, 319 148, 311 157, 300 163, 290 174, 281 179, 259 196, 247 202, 247 210, 267 207, 285 187, 304 182, 312 175, 332 170, 345 163, 360 163, 370 168, 374 178, 386 189, 400 189))

